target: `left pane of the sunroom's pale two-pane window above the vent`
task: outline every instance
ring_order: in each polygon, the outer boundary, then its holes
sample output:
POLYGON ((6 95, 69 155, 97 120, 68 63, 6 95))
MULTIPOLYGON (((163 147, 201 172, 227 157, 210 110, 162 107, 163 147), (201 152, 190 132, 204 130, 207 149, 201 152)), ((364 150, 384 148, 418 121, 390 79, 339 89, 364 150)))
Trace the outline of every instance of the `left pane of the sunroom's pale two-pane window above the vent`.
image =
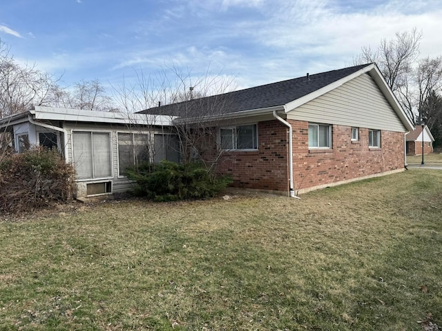
POLYGON ((77 178, 93 178, 92 137, 90 132, 73 133, 73 157, 77 178))

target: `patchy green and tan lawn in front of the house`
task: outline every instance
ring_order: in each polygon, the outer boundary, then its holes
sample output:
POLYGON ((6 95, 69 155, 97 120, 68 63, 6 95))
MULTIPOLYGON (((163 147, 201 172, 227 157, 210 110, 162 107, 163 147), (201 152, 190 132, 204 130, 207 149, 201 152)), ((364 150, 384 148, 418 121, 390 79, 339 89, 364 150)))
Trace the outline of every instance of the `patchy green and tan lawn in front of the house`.
POLYGON ((442 171, 304 194, 70 205, 0 222, 0 330, 442 324, 442 171))

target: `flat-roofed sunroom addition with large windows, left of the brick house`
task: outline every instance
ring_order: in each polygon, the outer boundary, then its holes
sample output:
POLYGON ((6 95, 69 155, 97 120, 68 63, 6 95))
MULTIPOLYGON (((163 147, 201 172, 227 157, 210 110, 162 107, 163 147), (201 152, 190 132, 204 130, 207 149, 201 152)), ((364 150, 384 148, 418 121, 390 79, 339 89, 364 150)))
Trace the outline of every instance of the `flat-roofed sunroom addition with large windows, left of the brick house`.
POLYGON ((0 132, 9 132, 12 147, 57 148, 77 172, 75 197, 124 192, 131 183, 128 165, 140 161, 179 161, 171 134, 171 117, 119 112, 35 107, 0 119, 0 132))

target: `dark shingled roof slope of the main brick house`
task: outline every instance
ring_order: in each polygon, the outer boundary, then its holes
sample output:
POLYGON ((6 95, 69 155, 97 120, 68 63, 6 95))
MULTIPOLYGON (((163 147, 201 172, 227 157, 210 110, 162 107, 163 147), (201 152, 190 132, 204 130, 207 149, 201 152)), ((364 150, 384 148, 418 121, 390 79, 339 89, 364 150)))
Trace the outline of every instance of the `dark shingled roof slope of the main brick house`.
POLYGON ((186 118, 213 115, 215 112, 218 112, 218 114, 220 112, 222 112, 222 114, 229 114, 242 112, 244 110, 283 106, 290 101, 305 97, 307 94, 320 90, 320 88, 324 88, 371 64, 372 63, 368 63, 362 66, 311 74, 308 78, 306 75, 287 81, 278 81, 276 83, 218 94, 211 97, 171 103, 169 105, 142 110, 140 113, 186 118), (204 112, 204 114, 202 114, 202 112, 204 112))

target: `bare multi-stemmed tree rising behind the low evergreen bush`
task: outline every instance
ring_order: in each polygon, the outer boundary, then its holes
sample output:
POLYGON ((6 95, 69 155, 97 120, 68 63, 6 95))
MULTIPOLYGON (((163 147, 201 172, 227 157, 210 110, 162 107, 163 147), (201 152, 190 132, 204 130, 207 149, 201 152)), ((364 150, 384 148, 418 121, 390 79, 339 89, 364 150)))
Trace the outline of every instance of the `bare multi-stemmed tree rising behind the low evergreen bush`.
MULTIPOLYGON (((126 112, 144 109, 145 114, 175 118, 173 130, 165 128, 171 141, 159 140, 169 146, 161 148, 153 141, 151 152, 155 155, 159 149, 176 148, 182 162, 198 159, 214 175, 223 152, 216 148, 216 128, 229 104, 229 97, 224 94, 229 90, 233 90, 233 81, 222 74, 212 74, 208 69, 195 77, 191 70, 171 66, 148 77, 137 72, 137 82, 114 88, 114 98, 126 112)), ((154 136, 156 139, 160 134, 154 136)))

